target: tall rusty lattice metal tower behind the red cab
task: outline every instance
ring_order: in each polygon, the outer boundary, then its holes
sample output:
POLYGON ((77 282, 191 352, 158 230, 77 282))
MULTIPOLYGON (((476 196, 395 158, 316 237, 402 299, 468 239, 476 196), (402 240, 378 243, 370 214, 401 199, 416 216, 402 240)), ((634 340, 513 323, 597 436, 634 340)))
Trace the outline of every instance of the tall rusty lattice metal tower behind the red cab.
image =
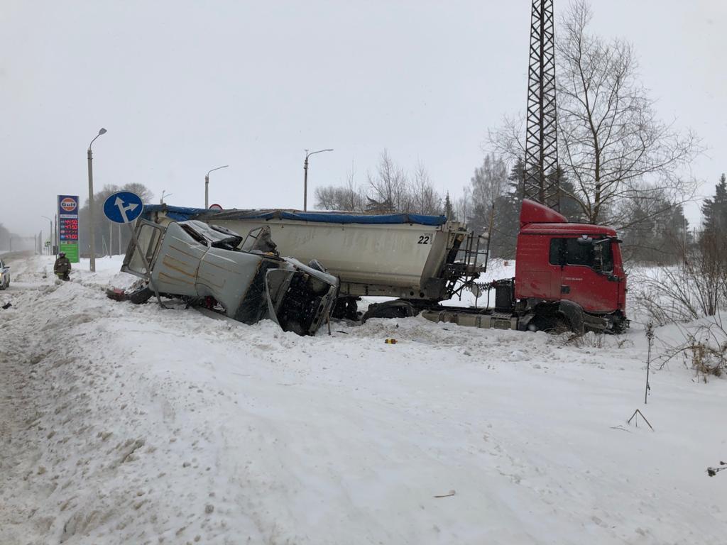
POLYGON ((559 209, 553 0, 533 0, 523 196, 559 209))

